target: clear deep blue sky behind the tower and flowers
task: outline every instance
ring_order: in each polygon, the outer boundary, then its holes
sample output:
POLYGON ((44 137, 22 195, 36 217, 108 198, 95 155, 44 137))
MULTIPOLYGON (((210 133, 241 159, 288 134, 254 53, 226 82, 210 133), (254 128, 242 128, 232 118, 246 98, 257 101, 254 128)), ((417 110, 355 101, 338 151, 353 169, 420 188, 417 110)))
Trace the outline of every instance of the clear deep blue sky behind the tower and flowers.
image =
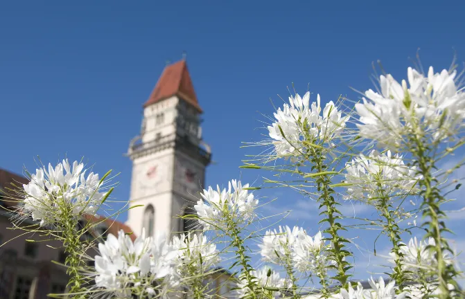
MULTIPOLYGON (((65 154, 121 172, 114 192, 127 200, 131 162, 123 156, 139 133, 142 104, 166 60, 187 52, 204 109, 204 140, 215 163, 207 184, 259 179, 239 170, 247 149, 266 133, 270 98, 295 84, 323 102, 349 87, 372 87, 371 62, 404 78, 418 48, 423 65, 448 68, 465 57, 465 4, 448 1, 5 1, 0 4, 0 167, 34 169, 33 158, 65 154)), ((315 226, 317 212, 295 193, 275 208, 297 209, 293 221, 315 226), (301 212, 308 209, 308 214, 301 212), (300 213, 300 214, 299 214, 300 213), (310 216, 309 216, 310 215, 310 216)), ((460 208, 457 206, 455 208, 460 208)), ((462 214, 463 215, 463 214, 462 214)), ((463 224, 456 217, 451 224, 463 224)), ((125 215, 120 218, 125 220, 125 215)), ((311 230, 315 231, 315 228, 311 230)), ((365 238, 365 232, 358 237, 365 238)), ((457 240, 465 244, 462 236, 457 240)), ((465 246, 465 245, 464 245, 465 246)), ((370 245, 365 246, 370 247, 370 245)))

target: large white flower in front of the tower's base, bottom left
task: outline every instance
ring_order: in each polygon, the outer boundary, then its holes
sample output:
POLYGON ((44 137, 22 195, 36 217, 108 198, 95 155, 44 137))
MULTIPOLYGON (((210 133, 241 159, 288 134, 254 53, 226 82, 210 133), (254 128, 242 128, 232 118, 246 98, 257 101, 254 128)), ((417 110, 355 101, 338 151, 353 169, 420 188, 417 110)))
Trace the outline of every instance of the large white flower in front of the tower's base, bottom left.
POLYGON ((166 237, 154 239, 142 235, 132 242, 123 230, 118 237, 109 234, 105 243, 98 244, 95 257, 98 293, 116 298, 131 298, 134 291, 155 296, 162 291, 163 279, 173 273, 176 251, 168 246, 166 237))

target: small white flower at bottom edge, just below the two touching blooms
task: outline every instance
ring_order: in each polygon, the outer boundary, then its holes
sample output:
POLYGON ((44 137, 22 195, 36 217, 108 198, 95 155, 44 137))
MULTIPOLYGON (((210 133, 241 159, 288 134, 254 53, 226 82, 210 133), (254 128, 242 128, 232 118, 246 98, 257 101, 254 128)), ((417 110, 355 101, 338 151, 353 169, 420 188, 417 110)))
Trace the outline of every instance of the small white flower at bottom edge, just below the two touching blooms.
MULTIPOLYGON (((284 278, 281 278, 279 273, 275 272, 274 270, 270 269, 269 267, 263 267, 257 271, 251 271, 250 274, 256 278, 254 281, 258 285, 259 288, 263 287, 274 287, 274 288, 288 288, 292 287, 292 282, 286 281, 284 278), (268 273, 270 275, 268 276, 268 273)), ((238 283, 238 298, 243 298, 248 293, 250 293, 250 289, 247 286, 247 282, 245 282, 245 278, 241 278, 241 282, 238 283)), ((258 290, 257 290, 258 291, 258 290)), ((279 291, 273 291, 272 294, 276 296, 279 294, 279 291)))

